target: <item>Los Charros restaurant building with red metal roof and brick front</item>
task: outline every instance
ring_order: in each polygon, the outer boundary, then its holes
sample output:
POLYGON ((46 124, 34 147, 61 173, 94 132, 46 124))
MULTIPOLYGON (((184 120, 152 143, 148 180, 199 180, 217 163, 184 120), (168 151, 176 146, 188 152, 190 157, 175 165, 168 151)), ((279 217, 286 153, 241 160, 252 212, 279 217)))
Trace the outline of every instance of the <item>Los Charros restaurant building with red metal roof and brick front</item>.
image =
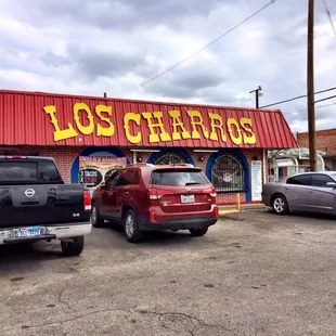
POLYGON ((219 204, 234 203, 237 194, 242 203, 260 202, 268 150, 297 147, 277 109, 42 92, 0 90, 0 126, 2 154, 52 156, 66 182, 102 182, 102 176, 83 179, 82 158, 186 163, 204 170, 219 204))

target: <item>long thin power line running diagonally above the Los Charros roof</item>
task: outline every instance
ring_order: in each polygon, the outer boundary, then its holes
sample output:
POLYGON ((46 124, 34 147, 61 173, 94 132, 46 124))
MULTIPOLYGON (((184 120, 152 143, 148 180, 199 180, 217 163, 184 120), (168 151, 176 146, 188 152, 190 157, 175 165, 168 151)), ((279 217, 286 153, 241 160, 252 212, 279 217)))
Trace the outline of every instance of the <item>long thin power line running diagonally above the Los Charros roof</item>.
POLYGON ((202 53, 204 50, 206 50, 207 48, 209 48, 210 46, 215 44, 217 41, 219 41, 220 39, 222 39, 223 37, 225 37, 227 35, 229 35, 231 31, 235 30, 236 28, 238 28, 240 26, 242 26, 243 24, 245 24, 247 21, 249 21, 250 18, 253 18, 254 16, 258 15, 260 12, 264 11, 267 8, 269 8, 270 5, 272 5, 273 3, 275 3, 276 0, 271 0, 269 1, 267 4, 264 4, 261 9, 259 9, 257 12, 255 12, 254 14, 249 15, 248 17, 246 17, 245 20, 243 20, 241 23, 238 23, 237 25, 233 26, 231 29, 227 30, 225 33, 221 34, 219 37, 217 37, 215 40, 210 41, 209 43, 205 44, 203 48, 198 49, 196 52, 194 52, 193 54, 191 54, 190 56, 179 61, 178 63, 176 63, 175 65, 166 68, 164 72, 157 74, 156 76, 150 78, 146 81, 143 81, 142 83, 140 83, 138 87, 135 87, 134 89, 131 89, 127 92, 125 92, 124 94, 120 95, 120 98, 122 98, 124 95, 131 93, 135 90, 138 90, 139 88, 144 87, 145 85, 150 83, 151 81, 166 75, 167 73, 171 72, 172 69, 175 69, 176 67, 178 67, 179 65, 192 60, 193 57, 195 57, 196 55, 198 55, 199 53, 202 53))

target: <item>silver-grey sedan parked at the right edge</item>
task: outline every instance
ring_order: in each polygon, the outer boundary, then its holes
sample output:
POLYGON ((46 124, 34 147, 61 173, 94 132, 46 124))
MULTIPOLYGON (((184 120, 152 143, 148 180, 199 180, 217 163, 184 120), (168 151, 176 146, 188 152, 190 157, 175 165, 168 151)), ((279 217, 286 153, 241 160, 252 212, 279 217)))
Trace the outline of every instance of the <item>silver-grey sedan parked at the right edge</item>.
POLYGON ((336 172, 297 173, 262 188, 262 202, 275 214, 309 211, 336 215, 336 172))

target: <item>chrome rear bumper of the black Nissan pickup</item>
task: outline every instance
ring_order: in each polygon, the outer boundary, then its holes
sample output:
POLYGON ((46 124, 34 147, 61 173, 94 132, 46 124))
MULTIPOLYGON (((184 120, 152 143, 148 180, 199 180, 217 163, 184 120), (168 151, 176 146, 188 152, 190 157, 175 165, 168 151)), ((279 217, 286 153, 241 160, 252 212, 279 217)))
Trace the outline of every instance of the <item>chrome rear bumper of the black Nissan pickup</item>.
POLYGON ((59 225, 38 225, 40 228, 40 234, 38 235, 22 235, 15 234, 15 229, 28 229, 29 227, 16 227, 0 229, 0 245, 26 243, 36 241, 49 241, 49 240, 67 240, 78 236, 83 236, 91 233, 90 222, 78 222, 70 224, 59 225))

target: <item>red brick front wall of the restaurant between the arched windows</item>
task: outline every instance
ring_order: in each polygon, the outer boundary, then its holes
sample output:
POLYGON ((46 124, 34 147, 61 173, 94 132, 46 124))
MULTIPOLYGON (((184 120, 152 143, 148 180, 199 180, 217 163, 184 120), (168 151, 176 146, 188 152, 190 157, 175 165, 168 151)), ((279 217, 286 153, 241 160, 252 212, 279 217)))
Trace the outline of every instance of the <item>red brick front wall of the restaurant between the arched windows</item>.
MULTIPOLYGON (((38 152, 41 156, 52 156, 55 159, 56 165, 61 170, 61 175, 63 180, 66 183, 70 182, 70 169, 76 157, 85 150, 85 147, 80 146, 22 146, 22 152, 38 152)), ((121 152, 132 163, 133 161, 133 153, 128 148, 121 148, 121 152)), ((206 170, 206 165, 211 153, 194 153, 192 150, 186 150, 186 152, 192 156, 195 161, 195 165, 201 167, 204 171, 206 170), (203 157, 203 160, 199 158, 203 157)), ((262 150, 242 150, 242 153, 245 155, 248 165, 253 160, 254 156, 258 156, 258 159, 262 159, 262 150)), ((141 157, 141 161, 145 163, 152 153, 141 152, 137 153, 138 157, 141 157)), ((264 167, 263 169, 267 169, 264 167)), ((250 170, 249 170, 250 175, 250 170)), ((249 179, 250 181, 250 179, 249 179)), ((249 182, 250 183, 250 182, 249 182)), ((249 185, 250 188, 250 185, 249 185)), ((218 204, 235 204, 236 202, 236 193, 218 193, 217 197, 218 204)), ((245 203, 245 192, 240 193, 240 202, 245 203)))

